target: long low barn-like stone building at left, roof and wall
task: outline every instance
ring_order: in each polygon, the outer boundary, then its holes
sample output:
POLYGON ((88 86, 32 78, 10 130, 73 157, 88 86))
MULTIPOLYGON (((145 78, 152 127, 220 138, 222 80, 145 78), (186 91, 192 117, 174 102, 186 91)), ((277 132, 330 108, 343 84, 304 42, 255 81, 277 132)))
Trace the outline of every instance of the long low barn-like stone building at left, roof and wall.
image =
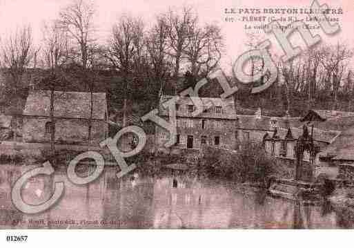
POLYGON ((50 121, 50 95, 50 90, 30 91, 23 110, 25 142, 50 142, 52 125, 57 144, 97 145, 108 137, 106 93, 92 93, 91 106, 91 93, 55 91, 54 124, 50 121))

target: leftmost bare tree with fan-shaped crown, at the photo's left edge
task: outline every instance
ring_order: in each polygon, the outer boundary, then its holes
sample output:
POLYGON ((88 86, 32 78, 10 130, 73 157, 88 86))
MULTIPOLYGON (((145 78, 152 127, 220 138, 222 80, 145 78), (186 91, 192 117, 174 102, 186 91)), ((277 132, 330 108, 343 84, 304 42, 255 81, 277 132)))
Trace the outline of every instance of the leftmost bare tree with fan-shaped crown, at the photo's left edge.
POLYGON ((35 50, 32 44, 32 29, 30 26, 23 26, 19 28, 14 34, 10 35, 3 40, 1 44, 1 61, 3 67, 8 69, 10 77, 12 79, 13 85, 10 86, 12 89, 12 99, 15 99, 14 111, 14 142, 16 142, 17 136, 17 115, 19 115, 20 98, 19 98, 19 87, 21 87, 23 74, 26 73, 26 70, 35 55, 35 50))

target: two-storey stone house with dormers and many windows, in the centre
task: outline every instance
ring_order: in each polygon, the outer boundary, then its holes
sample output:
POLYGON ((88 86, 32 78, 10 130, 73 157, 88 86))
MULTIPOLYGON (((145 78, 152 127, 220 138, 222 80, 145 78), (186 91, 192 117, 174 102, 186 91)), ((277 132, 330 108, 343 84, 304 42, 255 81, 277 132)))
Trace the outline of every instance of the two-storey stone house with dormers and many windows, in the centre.
MULTIPOLYGON (((173 96, 161 99, 159 115, 168 120, 168 109, 162 108, 162 103, 173 96)), ((232 149, 235 146, 236 113, 233 99, 201 97, 204 104, 203 113, 193 117, 195 111, 190 97, 180 97, 176 103, 177 134, 176 144, 172 149, 200 150, 203 144, 232 149), (206 109, 208 102, 213 106, 206 109)), ((170 139, 168 131, 156 125, 155 138, 157 148, 164 149, 164 144, 170 139)))

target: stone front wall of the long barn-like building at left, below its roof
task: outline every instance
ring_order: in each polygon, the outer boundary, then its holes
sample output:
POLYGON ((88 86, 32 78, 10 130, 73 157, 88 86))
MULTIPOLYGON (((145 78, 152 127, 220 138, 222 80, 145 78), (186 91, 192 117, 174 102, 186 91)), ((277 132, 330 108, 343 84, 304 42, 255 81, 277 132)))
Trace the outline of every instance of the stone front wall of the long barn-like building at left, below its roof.
MULTIPOLYGON (((50 118, 23 117, 24 142, 50 142, 46 133, 46 123, 50 118)), ((91 144, 99 144, 108 134, 108 126, 103 121, 92 120, 91 144)), ((87 144, 88 120, 57 119, 55 122, 55 142, 63 144, 87 144)))

